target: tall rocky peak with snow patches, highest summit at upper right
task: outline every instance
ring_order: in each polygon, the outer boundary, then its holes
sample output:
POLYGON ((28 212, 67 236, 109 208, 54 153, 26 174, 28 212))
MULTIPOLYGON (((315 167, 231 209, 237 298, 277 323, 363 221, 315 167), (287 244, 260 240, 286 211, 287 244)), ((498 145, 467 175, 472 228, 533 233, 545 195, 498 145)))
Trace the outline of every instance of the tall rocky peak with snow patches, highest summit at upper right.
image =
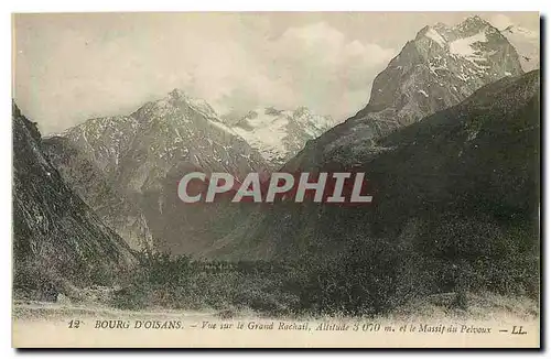
POLYGON ((515 47, 480 18, 468 18, 453 28, 425 26, 375 78, 368 105, 309 142, 287 166, 354 165, 369 154, 377 138, 457 105, 484 85, 520 74, 515 47), (355 152, 343 157, 343 148, 355 152))

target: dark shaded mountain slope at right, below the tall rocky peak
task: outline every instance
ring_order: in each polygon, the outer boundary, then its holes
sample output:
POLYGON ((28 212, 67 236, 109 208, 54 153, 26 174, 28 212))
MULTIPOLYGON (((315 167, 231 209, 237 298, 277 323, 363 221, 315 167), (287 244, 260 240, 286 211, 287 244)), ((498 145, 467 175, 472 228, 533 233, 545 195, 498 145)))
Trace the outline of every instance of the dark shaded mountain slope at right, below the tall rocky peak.
MULTIPOLYGON (((272 206, 253 213, 207 254, 231 260, 326 257, 349 238, 421 240, 455 220, 469 228, 491 224, 504 233, 518 226, 527 232, 515 240, 533 249, 539 91, 538 70, 487 85, 460 105, 378 140, 378 150, 357 166, 366 173, 372 204, 272 206)), ((338 168, 328 164, 323 170, 338 168)))

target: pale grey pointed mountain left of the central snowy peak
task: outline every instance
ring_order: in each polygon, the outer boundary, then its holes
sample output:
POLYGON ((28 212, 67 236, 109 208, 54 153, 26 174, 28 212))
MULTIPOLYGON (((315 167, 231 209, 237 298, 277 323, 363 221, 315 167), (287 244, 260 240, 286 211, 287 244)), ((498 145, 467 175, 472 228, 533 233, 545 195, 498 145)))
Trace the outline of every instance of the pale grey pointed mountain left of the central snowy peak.
POLYGON ((202 224, 215 213, 172 208, 181 205, 177 183, 187 171, 242 180, 269 168, 208 104, 177 89, 129 116, 91 119, 45 142, 67 183, 139 250, 201 247, 196 236, 185 235, 186 216, 208 232, 202 224))

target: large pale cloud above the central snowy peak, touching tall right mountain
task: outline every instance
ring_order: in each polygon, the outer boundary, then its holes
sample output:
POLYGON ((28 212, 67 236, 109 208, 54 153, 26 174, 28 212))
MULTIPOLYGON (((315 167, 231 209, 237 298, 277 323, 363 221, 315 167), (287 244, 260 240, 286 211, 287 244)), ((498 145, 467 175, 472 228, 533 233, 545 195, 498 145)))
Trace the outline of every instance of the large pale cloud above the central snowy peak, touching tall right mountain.
POLYGON ((347 39, 324 22, 290 28, 259 48, 255 73, 247 72, 234 84, 236 97, 215 102, 239 108, 238 98, 248 95, 255 106, 309 106, 344 120, 367 102, 372 78, 395 54, 396 50, 347 39), (354 104, 349 91, 361 94, 354 104))

